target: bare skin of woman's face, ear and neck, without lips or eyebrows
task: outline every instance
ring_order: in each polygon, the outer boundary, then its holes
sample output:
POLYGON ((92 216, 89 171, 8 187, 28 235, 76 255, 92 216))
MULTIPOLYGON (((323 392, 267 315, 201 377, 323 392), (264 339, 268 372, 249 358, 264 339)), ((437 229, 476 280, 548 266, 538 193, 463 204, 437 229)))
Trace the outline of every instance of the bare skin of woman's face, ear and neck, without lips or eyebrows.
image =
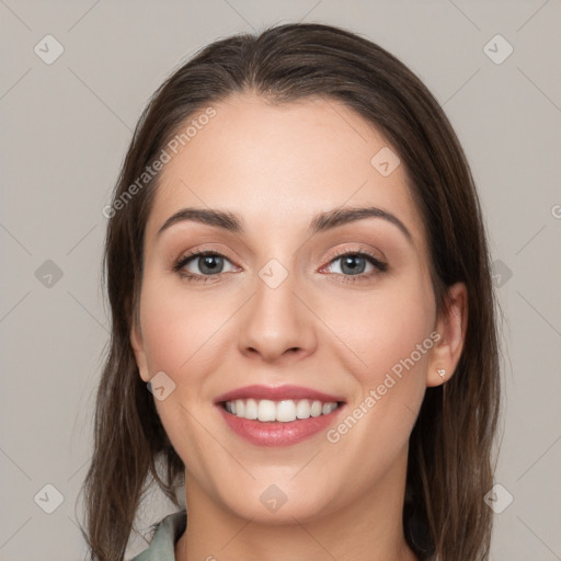
MULTIPOLYGON (((145 238, 140 324, 131 331, 139 373, 164 371, 175 389, 156 401, 185 463, 187 530, 176 559, 412 560, 402 530, 408 444, 426 387, 448 379, 466 329, 466 287, 436 318, 421 216, 399 165, 370 163, 388 142, 333 100, 272 105, 252 93, 213 105, 216 116, 165 164, 145 238), (308 236, 312 217, 347 206, 396 215, 308 236), (244 233, 193 221, 160 236, 184 207, 241 215, 244 233), (173 271, 191 250, 225 255, 208 283, 173 271), (334 252, 366 250, 388 264, 353 283, 334 252), (271 260, 288 273, 272 289, 271 260), (345 282, 346 280, 346 282, 345 282), (286 447, 233 434, 213 404, 241 386, 297 385, 344 396, 341 423, 430 334, 440 340, 335 444, 321 432, 286 447), (286 503, 270 512, 272 484, 286 503)), ((204 265, 204 263, 203 263, 204 265)), ((185 265, 204 275, 201 260, 185 265)))

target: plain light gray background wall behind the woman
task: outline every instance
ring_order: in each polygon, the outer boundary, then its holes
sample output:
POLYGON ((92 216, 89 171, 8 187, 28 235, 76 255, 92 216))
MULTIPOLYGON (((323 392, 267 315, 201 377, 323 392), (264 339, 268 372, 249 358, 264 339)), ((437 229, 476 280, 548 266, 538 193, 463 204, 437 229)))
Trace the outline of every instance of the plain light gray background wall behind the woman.
MULTIPOLYGON (((203 45, 295 21, 377 42, 456 128, 505 312, 496 481, 514 501, 495 516, 492 559, 561 559, 560 0, 0 0, 1 560, 84 554, 77 497, 108 336, 101 210, 142 107, 203 45), (47 34, 64 47, 50 65, 34 51, 56 53, 47 34), (514 48, 501 64, 507 45, 485 47, 496 34, 514 48), (51 514, 46 484, 64 496, 51 514)), ((142 527, 171 511, 156 495, 142 527)))

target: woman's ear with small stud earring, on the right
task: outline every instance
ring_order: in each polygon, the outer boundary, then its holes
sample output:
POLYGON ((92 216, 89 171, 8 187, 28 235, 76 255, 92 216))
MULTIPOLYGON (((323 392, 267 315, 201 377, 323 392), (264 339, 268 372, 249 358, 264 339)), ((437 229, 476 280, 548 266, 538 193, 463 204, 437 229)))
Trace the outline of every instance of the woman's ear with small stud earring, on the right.
POLYGON ((449 380, 460 359, 468 325, 468 290, 465 283, 448 288, 449 305, 440 312, 435 330, 440 339, 431 351, 426 386, 439 386, 449 380), (440 376, 438 370, 445 370, 440 376))

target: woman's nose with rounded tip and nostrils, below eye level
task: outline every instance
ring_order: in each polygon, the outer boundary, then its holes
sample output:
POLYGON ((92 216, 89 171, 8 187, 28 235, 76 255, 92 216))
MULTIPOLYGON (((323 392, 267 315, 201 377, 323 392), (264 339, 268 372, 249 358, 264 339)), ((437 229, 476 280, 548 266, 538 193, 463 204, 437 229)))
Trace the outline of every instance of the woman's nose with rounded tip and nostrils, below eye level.
POLYGON ((289 274, 276 287, 257 277, 255 293, 240 316, 239 348, 249 358, 297 362, 314 352, 318 319, 293 277, 289 274))

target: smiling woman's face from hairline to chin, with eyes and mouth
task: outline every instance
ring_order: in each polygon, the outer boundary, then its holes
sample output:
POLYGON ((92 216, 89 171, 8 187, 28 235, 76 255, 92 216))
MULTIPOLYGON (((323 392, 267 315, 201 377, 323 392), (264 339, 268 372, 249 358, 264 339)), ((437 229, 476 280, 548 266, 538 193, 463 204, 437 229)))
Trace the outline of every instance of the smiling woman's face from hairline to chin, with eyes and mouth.
POLYGON ((131 333, 187 504, 293 523, 394 494, 424 391, 455 367, 403 165, 333 100, 213 107, 168 150, 131 333))

